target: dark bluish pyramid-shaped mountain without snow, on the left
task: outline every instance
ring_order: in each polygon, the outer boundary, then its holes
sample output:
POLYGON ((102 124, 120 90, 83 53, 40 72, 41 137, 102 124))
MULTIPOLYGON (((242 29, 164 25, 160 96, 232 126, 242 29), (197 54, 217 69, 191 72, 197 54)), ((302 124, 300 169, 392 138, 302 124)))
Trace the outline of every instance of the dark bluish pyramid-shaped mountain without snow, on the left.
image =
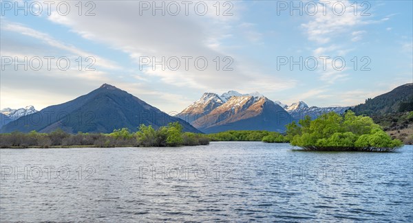
POLYGON ((140 124, 159 128, 174 121, 179 121, 184 131, 199 132, 187 122, 163 113, 138 97, 115 86, 103 84, 70 102, 49 106, 12 121, 3 126, 1 132, 52 132, 61 128, 72 133, 108 133, 118 128, 136 130, 140 124))

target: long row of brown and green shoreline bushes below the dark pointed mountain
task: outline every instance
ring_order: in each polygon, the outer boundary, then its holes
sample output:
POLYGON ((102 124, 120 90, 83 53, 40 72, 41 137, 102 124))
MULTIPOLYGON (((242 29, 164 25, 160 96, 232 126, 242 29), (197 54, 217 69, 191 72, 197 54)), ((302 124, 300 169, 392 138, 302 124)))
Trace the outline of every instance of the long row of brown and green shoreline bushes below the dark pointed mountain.
POLYGON ((208 144, 209 138, 204 134, 182 132, 182 126, 178 122, 162 126, 158 130, 142 124, 137 132, 122 128, 109 134, 82 132, 68 134, 60 129, 50 133, 32 131, 0 134, 0 148, 174 147, 208 144))

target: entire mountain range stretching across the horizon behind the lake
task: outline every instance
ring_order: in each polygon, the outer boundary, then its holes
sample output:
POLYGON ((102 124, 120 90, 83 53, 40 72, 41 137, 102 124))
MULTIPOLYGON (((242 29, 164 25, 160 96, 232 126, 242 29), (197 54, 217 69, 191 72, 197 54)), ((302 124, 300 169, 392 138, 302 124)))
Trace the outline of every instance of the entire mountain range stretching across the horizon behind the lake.
POLYGON ((305 102, 290 106, 272 101, 260 93, 228 91, 218 95, 204 93, 200 99, 176 117, 163 113, 134 95, 103 84, 100 88, 70 102, 36 111, 33 106, 1 110, 1 132, 112 132, 117 128, 136 130, 140 124, 153 128, 179 121, 187 132, 222 132, 225 130, 269 130, 284 132, 285 125, 306 115, 315 119, 334 111, 354 110, 358 115, 380 115, 413 110, 413 84, 404 84, 389 93, 354 107, 319 108, 305 102))

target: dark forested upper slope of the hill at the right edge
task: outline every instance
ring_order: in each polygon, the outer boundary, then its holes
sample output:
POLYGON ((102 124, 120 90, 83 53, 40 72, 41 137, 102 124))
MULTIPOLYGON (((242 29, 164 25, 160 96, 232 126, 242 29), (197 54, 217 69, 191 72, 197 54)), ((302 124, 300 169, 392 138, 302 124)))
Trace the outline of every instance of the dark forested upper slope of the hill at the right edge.
POLYGON ((354 106, 357 115, 384 115, 413 110, 413 83, 403 84, 388 93, 366 99, 364 104, 354 106))

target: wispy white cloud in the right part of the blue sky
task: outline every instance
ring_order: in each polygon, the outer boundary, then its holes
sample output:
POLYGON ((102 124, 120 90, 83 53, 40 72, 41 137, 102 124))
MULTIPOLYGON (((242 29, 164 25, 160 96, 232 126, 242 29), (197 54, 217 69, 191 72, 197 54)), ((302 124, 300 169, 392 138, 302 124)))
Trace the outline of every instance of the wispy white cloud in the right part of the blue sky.
MULTIPOLYGON (((326 14, 317 13, 315 16, 309 17, 310 21, 301 24, 301 27, 306 31, 308 40, 313 41, 316 45, 315 49, 313 49, 313 56, 316 58, 318 56, 330 56, 331 58, 326 60, 329 65, 325 70, 317 70, 319 80, 328 84, 334 84, 339 80, 346 80, 348 78, 347 68, 340 71, 330 66, 332 58, 345 56, 354 50, 352 42, 361 40, 363 34, 366 34, 366 30, 357 29, 363 25, 377 22, 367 20, 368 16, 361 16, 361 13, 354 15, 353 10, 346 10, 342 15, 338 15, 337 11, 334 11, 336 12, 334 13, 332 8, 332 5, 336 2, 343 3, 346 9, 352 8, 351 1, 330 1, 326 6, 326 14)), ((319 8, 323 8, 320 3, 319 8)), ((346 60, 346 58, 344 59, 346 60)), ((346 64, 346 67, 348 67, 348 64, 346 64)))

